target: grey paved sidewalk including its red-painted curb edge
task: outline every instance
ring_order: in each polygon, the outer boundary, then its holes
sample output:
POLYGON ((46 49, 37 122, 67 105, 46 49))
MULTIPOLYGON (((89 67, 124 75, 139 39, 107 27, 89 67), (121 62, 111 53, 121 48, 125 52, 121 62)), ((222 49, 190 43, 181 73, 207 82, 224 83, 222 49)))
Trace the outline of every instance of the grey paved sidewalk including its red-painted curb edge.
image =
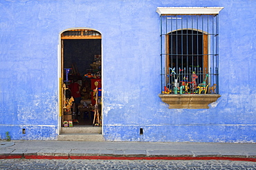
POLYGON ((0 158, 46 159, 225 159, 256 161, 253 143, 77 142, 15 140, 0 142, 0 158))

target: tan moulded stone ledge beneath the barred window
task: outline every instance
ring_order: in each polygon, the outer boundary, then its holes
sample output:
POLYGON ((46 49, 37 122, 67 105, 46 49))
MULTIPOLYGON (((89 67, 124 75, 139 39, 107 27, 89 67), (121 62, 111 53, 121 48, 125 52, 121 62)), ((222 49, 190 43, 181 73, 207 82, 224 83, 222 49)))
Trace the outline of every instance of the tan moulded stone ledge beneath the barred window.
POLYGON ((209 109, 208 105, 217 101, 219 94, 159 94, 169 109, 209 109))

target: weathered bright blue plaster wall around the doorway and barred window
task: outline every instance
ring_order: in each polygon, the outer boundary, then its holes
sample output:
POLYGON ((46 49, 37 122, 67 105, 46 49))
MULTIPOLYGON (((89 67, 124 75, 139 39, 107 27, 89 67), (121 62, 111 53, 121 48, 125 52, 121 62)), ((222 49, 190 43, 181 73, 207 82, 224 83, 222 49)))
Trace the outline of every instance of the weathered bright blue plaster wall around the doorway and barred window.
POLYGON ((256 142, 255 8, 254 0, 0 0, 1 138, 6 131, 15 140, 57 138, 60 32, 93 28, 102 33, 106 140, 256 142), (156 8, 182 6, 224 7, 221 98, 210 109, 168 109, 158 97, 156 8))

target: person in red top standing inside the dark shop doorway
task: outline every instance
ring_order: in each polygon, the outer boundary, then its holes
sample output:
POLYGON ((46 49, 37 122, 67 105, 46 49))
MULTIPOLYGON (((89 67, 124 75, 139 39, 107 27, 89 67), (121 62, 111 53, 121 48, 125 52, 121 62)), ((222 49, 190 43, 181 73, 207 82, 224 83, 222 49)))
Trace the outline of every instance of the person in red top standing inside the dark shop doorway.
POLYGON ((74 98, 73 114, 77 113, 78 105, 80 105, 80 102, 82 100, 80 94, 81 86, 79 83, 77 83, 77 81, 77 78, 73 78, 73 83, 71 83, 71 85, 68 85, 68 89, 71 91, 71 96, 73 96, 74 98))

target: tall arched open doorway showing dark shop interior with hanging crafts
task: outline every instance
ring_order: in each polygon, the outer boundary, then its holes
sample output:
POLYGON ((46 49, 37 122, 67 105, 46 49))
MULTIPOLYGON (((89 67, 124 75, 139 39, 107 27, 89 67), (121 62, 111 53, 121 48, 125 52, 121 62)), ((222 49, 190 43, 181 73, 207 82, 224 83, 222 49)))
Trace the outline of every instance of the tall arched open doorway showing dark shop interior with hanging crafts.
POLYGON ((96 30, 61 34, 62 126, 100 126, 102 42, 96 30))

